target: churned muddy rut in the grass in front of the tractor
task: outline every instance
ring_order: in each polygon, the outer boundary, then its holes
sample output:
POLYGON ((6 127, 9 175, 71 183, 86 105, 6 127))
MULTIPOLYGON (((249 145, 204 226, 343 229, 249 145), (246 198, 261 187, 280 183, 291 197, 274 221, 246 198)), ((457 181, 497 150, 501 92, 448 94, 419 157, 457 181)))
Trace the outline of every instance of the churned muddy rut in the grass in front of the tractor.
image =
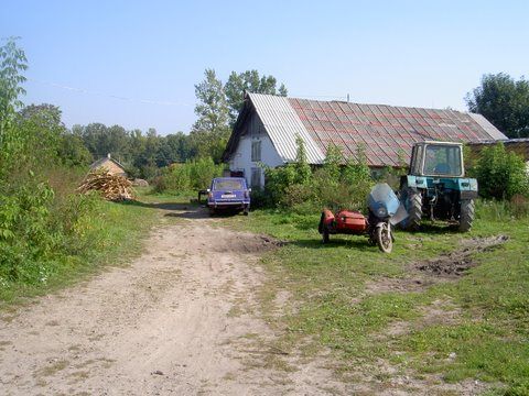
POLYGON ((507 235, 473 238, 462 242, 463 248, 436 258, 415 264, 415 268, 442 277, 460 277, 476 265, 475 253, 498 248, 508 241, 507 235))

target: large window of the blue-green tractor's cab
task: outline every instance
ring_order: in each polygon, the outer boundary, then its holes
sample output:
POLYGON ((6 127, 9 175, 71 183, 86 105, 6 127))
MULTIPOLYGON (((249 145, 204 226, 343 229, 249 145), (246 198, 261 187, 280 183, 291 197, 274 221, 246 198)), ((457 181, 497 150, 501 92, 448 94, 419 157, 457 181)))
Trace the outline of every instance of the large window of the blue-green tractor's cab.
POLYGON ((428 145, 424 158, 425 175, 461 176, 461 147, 428 145))

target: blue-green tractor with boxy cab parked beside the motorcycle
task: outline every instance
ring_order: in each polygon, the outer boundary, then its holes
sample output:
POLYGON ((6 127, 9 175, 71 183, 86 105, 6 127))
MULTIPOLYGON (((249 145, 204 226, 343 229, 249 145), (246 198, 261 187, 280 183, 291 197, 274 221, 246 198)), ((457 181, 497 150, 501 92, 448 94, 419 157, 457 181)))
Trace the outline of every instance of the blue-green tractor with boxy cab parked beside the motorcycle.
POLYGON ((458 230, 471 230, 477 180, 465 177, 463 145, 420 142, 413 145, 410 172, 400 180, 400 200, 408 211, 400 224, 415 231, 422 218, 444 220, 458 230))

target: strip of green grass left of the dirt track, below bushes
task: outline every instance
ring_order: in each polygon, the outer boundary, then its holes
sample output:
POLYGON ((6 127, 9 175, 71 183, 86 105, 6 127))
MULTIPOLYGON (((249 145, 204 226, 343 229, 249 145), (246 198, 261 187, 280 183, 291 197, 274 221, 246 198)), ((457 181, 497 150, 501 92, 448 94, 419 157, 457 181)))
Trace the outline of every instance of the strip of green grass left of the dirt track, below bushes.
POLYGON ((142 240, 159 217, 149 207, 100 201, 85 224, 86 248, 77 254, 61 255, 44 263, 45 280, 36 284, 10 283, 0 288, 0 308, 23 302, 69 286, 106 266, 127 263, 139 254, 142 240))

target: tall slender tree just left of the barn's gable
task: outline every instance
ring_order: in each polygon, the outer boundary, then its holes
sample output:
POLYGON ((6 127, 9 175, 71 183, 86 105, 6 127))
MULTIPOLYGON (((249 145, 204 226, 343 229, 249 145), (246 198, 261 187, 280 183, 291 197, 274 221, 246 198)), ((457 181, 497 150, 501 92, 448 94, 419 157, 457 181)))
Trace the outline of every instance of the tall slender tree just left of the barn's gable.
POLYGON ((196 156, 210 156, 219 162, 229 138, 228 106, 223 82, 214 69, 206 69, 204 80, 195 85, 198 103, 195 113, 198 119, 190 133, 196 156))

